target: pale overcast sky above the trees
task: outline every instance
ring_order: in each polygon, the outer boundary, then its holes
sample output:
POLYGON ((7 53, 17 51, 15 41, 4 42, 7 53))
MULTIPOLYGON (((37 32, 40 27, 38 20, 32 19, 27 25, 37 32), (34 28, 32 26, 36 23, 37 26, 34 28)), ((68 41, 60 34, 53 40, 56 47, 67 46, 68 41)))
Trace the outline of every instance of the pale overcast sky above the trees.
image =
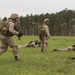
POLYGON ((55 13, 63 9, 75 10, 75 0, 0 0, 0 17, 12 13, 27 14, 55 13))

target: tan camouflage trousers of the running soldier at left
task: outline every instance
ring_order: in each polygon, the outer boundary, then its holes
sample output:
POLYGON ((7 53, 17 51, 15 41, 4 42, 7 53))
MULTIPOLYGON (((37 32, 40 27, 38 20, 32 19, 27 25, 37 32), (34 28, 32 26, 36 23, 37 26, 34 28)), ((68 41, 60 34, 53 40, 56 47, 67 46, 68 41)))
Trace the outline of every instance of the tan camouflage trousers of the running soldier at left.
POLYGON ((14 56, 18 56, 18 48, 13 39, 8 36, 0 35, 0 55, 7 51, 8 46, 12 48, 14 56))

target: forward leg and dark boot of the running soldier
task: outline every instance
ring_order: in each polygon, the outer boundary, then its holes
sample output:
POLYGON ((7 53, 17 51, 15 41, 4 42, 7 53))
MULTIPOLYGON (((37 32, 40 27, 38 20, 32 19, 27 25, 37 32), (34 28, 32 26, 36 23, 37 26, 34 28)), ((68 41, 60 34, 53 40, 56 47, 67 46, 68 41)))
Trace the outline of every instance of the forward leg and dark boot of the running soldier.
POLYGON ((15 60, 18 60, 18 47, 12 38, 7 39, 8 45, 12 48, 15 60))

